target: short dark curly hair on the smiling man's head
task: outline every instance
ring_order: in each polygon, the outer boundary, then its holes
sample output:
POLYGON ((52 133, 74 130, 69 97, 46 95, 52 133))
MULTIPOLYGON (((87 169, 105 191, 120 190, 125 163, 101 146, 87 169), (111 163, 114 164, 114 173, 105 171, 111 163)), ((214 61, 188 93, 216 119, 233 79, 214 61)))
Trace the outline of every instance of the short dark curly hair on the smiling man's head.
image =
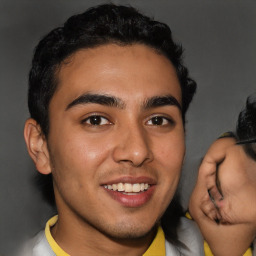
POLYGON ((70 17, 37 45, 29 73, 30 115, 47 136, 48 108, 58 86, 57 72, 66 58, 79 49, 114 43, 144 44, 166 56, 176 69, 182 91, 182 117, 193 98, 196 83, 182 63, 182 46, 172 39, 170 28, 126 6, 104 4, 70 17))

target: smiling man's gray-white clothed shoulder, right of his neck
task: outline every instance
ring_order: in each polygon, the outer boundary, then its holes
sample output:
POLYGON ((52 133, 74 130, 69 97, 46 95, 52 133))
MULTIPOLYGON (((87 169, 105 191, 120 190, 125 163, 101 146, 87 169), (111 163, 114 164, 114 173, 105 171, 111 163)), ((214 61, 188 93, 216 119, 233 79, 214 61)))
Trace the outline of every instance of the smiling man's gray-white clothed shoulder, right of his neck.
POLYGON ((204 240, 194 221, 182 217, 178 226, 177 235, 182 245, 174 247, 166 241, 166 256, 176 254, 183 256, 204 256, 204 240))

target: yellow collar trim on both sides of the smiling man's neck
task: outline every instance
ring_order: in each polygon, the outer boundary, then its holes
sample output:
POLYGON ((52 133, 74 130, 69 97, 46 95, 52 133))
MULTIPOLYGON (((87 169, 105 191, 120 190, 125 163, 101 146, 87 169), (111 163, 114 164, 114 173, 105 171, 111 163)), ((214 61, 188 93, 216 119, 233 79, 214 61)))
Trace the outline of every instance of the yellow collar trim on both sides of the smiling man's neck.
MULTIPOLYGON (((70 256, 60 248, 60 246, 52 237, 51 227, 53 227, 57 221, 58 215, 52 217, 47 221, 45 226, 46 239, 56 256, 70 256)), ((156 237, 154 238, 147 251, 143 254, 143 256, 165 256, 165 236, 164 231, 161 227, 158 227, 156 237)))

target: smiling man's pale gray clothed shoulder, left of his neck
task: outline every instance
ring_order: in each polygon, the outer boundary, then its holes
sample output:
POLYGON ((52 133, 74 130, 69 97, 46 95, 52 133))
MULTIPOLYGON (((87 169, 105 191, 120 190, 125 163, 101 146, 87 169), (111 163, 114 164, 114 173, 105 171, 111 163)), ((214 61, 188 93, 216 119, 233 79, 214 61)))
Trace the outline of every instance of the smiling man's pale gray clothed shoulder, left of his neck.
POLYGON ((55 256, 44 231, 40 231, 32 239, 28 240, 17 256, 55 256))

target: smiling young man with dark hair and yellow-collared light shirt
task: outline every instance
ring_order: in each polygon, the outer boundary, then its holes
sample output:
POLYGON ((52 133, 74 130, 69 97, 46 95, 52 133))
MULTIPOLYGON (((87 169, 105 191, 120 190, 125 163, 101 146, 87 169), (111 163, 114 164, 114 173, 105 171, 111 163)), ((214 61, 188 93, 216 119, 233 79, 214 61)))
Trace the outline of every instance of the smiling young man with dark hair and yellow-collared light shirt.
POLYGON ((52 175, 58 216, 26 255, 203 254, 178 206, 165 213, 196 89, 181 55, 168 26, 115 5, 41 40, 24 135, 37 170, 52 175))

